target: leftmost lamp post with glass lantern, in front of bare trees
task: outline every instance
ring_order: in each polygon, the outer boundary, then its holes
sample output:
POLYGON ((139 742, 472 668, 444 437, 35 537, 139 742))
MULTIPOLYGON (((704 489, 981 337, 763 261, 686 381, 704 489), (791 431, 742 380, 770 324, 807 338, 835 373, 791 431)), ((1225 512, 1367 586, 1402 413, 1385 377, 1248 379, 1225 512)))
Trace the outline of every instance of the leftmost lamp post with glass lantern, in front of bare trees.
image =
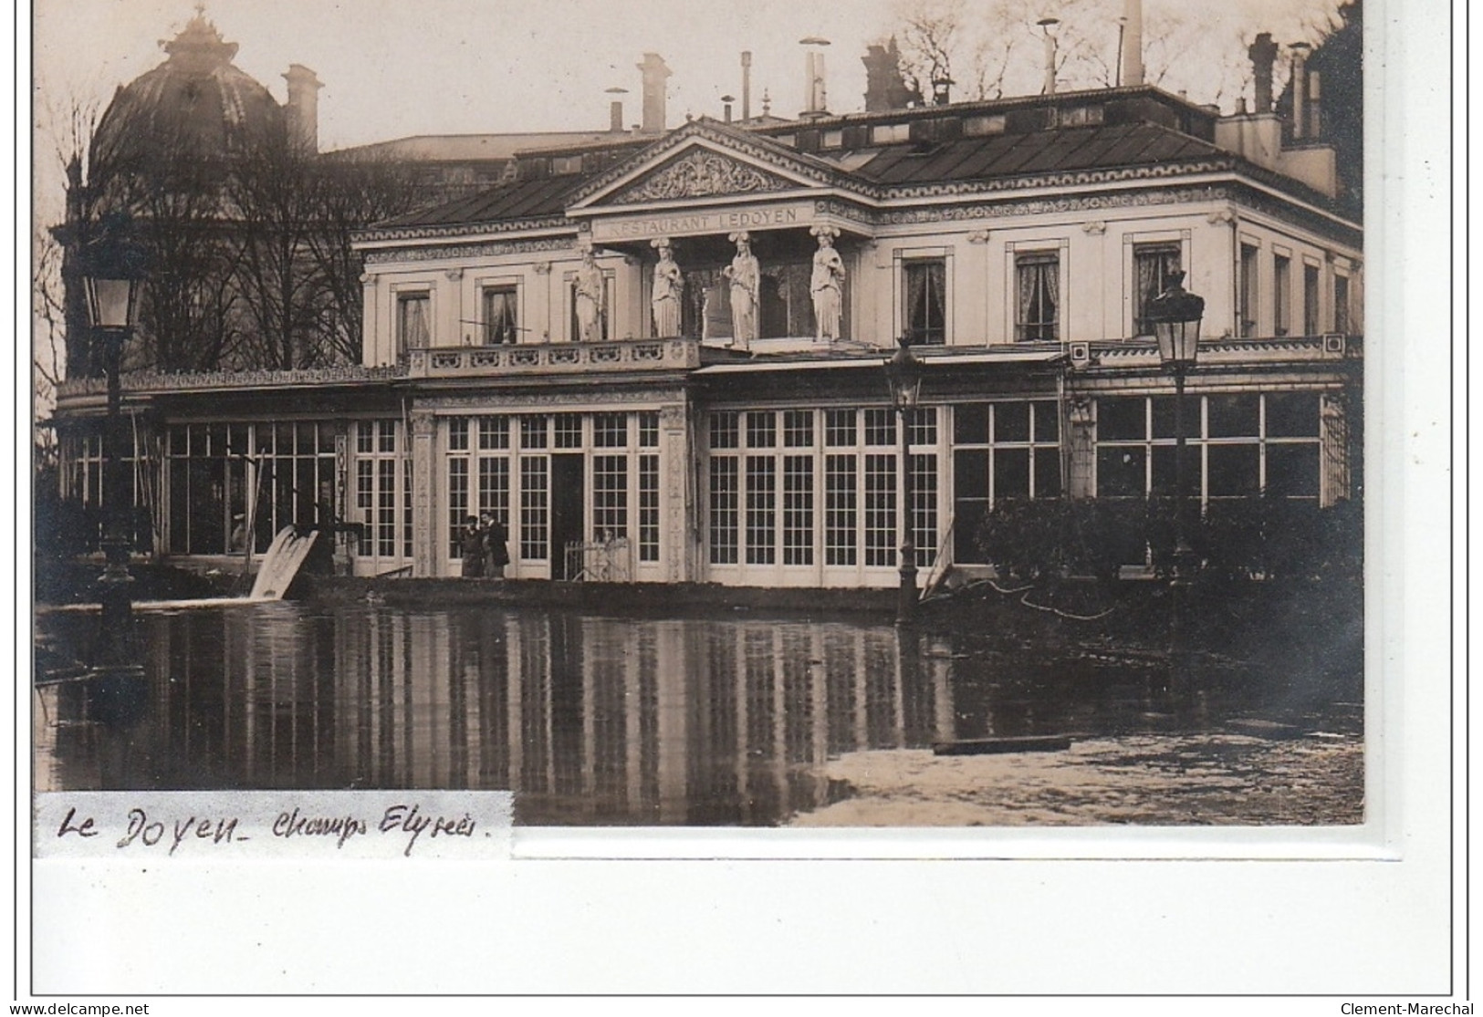
POLYGON ((87 291, 87 323, 92 339, 102 348, 104 371, 108 375, 108 417, 104 424, 104 535, 107 566, 98 580, 101 606, 98 645, 93 651, 92 678, 105 679, 98 692, 104 697, 128 694, 128 682, 141 678, 144 669, 133 646, 133 603, 129 586, 129 546, 132 543, 132 506, 129 468, 123 448, 129 439, 123 427, 122 391, 119 381, 123 347, 133 334, 144 280, 142 251, 128 237, 126 224, 105 222, 98 242, 85 249, 83 285, 87 291))

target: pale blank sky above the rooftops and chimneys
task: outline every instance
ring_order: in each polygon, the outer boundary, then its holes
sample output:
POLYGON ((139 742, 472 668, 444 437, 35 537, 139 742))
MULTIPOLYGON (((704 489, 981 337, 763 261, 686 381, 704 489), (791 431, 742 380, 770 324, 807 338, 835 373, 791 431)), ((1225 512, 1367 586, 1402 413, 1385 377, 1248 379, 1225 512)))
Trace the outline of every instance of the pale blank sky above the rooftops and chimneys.
MULTIPOLYGON (((325 148, 412 133, 584 130, 608 125, 608 87, 626 87, 626 120, 639 120, 645 50, 673 70, 669 123, 687 113, 721 116, 719 96, 740 99, 740 52, 753 53, 753 113, 762 90, 773 111, 802 108, 799 40, 822 36, 829 108, 860 110, 869 42, 887 36, 906 0, 208 0, 206 16, 236 64, 283 98, 289 64, 325 83, 319 125, 325 148)), ((1065 0, 1023 4, 1026 22, 1065 0)), ((1280 42, 1305 15, 1336 0, 1222 0, 1198 16, 1268 27, 1280 42)), ((964 0, 971 10, 973 0, 964 0)), ((1121 0, 1106 0, 1120 12, 1121 0)), ((1145 18, 1188 0, 1145 0, 1145 18)), ((37 89, 52 107, 74 98, 107 104, 114 87, 159 65, 159 40, 193 16, 190 0, 36 0, 37 89)), ((1253 30, 1255 31, 1255 30, 1253 30)), ((1108 40, 1115 50, 1115 39, 1108 40)), ((1197 68, 1195 68, 1197 70, 1197 68)), ((1194 93, 1191 98, 1200 98, 1194 93)), ((740 101, 737 102, 740 116, 740 101)), ((47 111, 39 111, 39 120, 47 111)), ((46 142, 40 142, 46 147, 46 142)))

